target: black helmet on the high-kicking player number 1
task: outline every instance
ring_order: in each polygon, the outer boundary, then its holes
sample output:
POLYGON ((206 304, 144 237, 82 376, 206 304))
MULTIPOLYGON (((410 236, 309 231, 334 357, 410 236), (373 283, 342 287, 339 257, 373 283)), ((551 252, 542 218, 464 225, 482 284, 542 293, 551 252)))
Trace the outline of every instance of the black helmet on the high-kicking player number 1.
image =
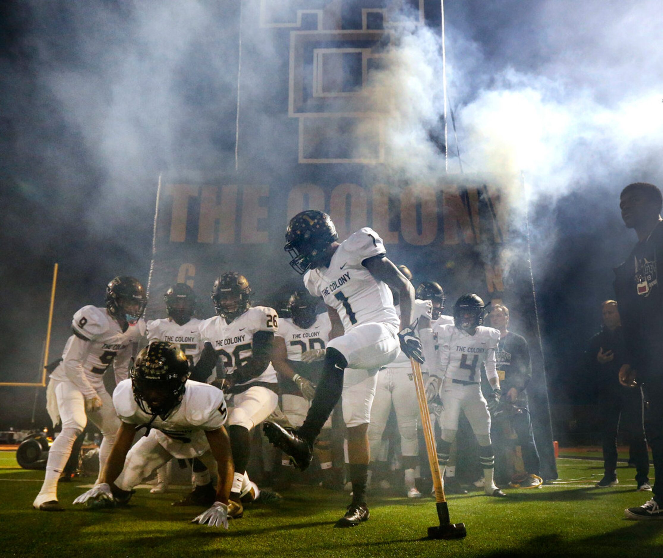
POLYGON ((302 275, 318 266, 324 251, 337 240, 331 217, 323 211, 307 209, 290 219, 284 250, 292 258, 292 269, 302 275))

